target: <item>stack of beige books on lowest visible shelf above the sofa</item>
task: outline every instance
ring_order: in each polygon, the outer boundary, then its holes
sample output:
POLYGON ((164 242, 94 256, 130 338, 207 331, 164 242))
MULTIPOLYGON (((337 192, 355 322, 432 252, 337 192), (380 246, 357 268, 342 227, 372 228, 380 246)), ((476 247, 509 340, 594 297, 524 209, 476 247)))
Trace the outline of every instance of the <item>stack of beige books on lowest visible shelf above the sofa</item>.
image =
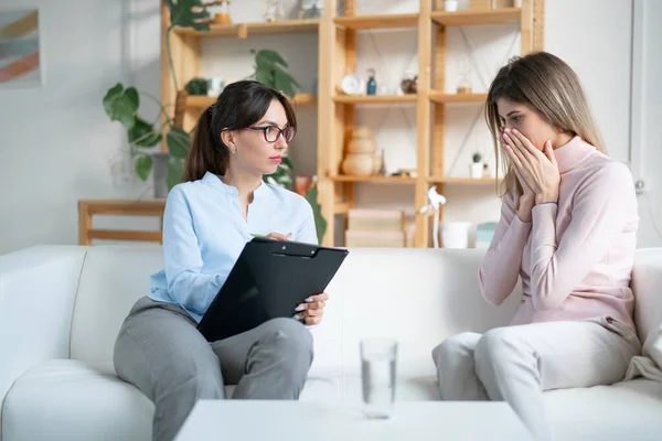
POLYGON ((412 215, 399 209, 350 209, 345 247, 412 247, 412 215))

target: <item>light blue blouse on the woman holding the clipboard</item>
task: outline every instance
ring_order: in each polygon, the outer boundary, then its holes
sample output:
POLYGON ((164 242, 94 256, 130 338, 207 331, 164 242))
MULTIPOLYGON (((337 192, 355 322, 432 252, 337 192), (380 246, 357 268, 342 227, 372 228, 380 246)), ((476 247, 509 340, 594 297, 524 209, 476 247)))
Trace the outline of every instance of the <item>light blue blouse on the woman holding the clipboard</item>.
POLYGON ((237 189, 215 174, 175 185, 163 214, 164 269, 150 278, 149 298, 179 304, 200 322, 252 234, 273 232, 317 245, 308 201, 263 182, 244 219, 237 189))

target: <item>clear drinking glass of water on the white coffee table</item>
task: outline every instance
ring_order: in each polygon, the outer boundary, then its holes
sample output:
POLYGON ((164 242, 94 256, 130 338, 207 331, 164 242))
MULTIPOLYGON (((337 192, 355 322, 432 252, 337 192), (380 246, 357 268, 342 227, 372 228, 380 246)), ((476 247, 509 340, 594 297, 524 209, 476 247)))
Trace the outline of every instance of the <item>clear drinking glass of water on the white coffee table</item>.
POLYGON ((371 338, 361 342, 361 383, 364 413, 385 419, 393 412, 395 400, 395 362, 397 342, 371 338))

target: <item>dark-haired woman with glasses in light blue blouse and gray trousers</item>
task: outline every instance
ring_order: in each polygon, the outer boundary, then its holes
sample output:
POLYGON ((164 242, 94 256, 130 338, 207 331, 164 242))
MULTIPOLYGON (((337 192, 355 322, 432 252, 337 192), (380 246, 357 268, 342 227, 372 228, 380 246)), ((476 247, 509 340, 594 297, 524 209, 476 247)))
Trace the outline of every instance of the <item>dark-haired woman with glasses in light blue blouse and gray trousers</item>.
POLYGON ((168 195, 164 269, 125 320, 115 344, 118 376, 154 404, 153 439, 172 440, 199 399, 298 399, 328 295, 243 334, 209 343, 196 330, 253 235, 317 244, 312 209, 269 185, 297 120, 288 99, 257 82, 228 85, 202 114, 184 182, 168 195))

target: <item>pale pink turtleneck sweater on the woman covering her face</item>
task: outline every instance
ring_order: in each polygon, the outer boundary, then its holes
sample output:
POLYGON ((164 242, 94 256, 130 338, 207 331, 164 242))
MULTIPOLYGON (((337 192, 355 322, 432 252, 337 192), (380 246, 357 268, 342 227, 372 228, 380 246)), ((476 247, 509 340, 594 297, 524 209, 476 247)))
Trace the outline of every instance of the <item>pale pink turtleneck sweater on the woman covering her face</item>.
POLYGON ((506 194, 481 263, 482 295, 501 304, 522 278, 524 297, 511 324, 611 316, 631 329, 629 288, 639 224, 630 170, 581 138, 554 150, 558 204, 536 205, 532 222, 506 194))

